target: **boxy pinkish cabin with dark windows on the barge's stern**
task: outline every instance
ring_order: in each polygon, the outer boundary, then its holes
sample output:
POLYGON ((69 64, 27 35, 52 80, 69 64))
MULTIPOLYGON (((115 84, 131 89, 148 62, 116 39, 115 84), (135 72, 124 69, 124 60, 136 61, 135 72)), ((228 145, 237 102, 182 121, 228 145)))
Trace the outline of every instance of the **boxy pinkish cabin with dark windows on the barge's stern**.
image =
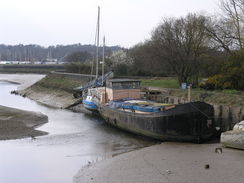
POLYGON ((110 79, 106 82, 107 100, 140 98, 141 81, 135 79, 110 79))

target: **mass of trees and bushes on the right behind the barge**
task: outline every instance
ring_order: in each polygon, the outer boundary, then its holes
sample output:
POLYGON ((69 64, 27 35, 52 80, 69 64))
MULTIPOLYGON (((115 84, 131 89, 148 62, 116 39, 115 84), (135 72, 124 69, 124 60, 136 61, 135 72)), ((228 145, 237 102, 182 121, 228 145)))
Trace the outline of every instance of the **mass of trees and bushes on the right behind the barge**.
POLYGON ((244 89, 244 0, 221 0, 220 9, 221 16, 163 18, 114 69, 118 75, 173 75, 196 86, 207 77, 201 87, 244 89))

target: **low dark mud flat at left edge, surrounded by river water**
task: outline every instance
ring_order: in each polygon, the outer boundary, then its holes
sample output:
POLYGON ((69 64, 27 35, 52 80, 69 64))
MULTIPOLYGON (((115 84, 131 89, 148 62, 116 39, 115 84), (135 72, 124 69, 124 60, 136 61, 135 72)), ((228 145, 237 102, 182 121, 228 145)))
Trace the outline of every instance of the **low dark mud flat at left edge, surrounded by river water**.
POLYGON ((35 128, 47 121, 48 117, 41 113, 0 105, 0 140, 46 135, 46 132, 35 130, 35 128))

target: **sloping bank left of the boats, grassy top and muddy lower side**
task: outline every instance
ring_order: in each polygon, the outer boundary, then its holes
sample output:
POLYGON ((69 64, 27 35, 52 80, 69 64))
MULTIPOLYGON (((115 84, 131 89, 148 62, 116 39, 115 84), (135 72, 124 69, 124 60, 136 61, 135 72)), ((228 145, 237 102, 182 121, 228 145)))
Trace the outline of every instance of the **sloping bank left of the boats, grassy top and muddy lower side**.
POLYGON ((86 83, 86 80, 79 76, 48 74, 20 93, 48 106, 66 108, 77 101, 73 97, 73 88, 86 83))

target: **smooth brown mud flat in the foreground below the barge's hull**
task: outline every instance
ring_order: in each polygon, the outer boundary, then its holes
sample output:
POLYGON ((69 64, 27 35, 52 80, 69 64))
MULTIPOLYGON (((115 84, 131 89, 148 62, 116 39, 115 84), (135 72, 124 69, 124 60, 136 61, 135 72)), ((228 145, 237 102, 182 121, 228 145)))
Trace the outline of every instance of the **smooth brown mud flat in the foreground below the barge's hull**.
POLYGON ((244 151, 220 144, 163 143, 129 152, 81 169, 75 183, 239 183, 244 151))

